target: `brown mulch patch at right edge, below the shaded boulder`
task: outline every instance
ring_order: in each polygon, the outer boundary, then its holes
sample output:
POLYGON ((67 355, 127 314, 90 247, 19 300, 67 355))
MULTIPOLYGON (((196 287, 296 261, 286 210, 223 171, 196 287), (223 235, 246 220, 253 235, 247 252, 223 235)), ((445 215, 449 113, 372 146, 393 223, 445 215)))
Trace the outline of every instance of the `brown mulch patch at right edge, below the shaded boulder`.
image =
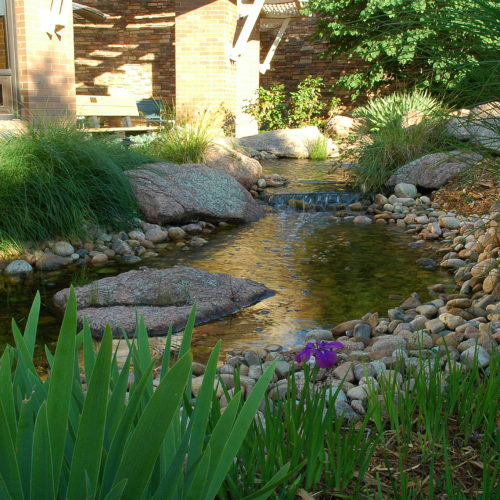
POLYGON ((488 159, 456 175, 432 201, 458 213, 482 215, 500 202, 500 158, 488 159))

